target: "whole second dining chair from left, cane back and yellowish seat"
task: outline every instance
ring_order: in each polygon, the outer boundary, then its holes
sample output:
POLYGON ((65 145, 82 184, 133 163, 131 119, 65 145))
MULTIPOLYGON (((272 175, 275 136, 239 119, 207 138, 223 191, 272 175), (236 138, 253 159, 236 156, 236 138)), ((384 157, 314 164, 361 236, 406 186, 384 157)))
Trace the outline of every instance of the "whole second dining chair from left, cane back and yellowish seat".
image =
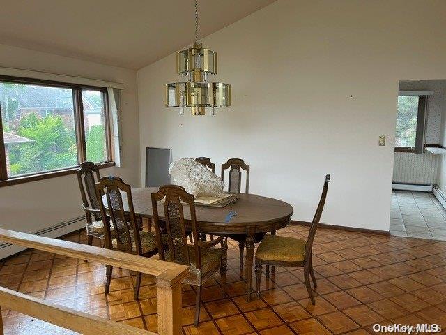
MULTIPOLYGON (((118 177, 103 177, 95 184, 96 195, 107 200, 106 211, 104 203, 99 202, 100 213, 105 225, 105 248, 123 251, 134 255, 151 257, 158 253, 158 244, 153 232, 139 230, 139 221, 134 214, 132 188, 118 177), (125 195, 125 200, 123 200, 125 195), (108 215, 107 215, 108 214, 108 215), (111 225, 114 228, 112 234, 111 225)), ((162 237, 160 237, 162 239, 162 237)), ((110 281, 112 281, 112 265, 106 265, 107 281, 105 294, 109 293, 110 281)), ((134 299, 138 300, 141 287, 141 272, 137 272, 137 282, 134 287, 134 299)))

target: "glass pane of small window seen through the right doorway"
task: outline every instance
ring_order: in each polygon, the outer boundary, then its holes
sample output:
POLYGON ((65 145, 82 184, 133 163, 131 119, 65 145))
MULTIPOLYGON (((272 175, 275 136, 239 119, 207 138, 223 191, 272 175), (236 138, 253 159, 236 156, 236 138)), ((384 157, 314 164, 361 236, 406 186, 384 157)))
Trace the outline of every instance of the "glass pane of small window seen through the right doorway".
POLYGON ((417 135, 418 96, 399 96, 396 147, 415 147, 417 135))

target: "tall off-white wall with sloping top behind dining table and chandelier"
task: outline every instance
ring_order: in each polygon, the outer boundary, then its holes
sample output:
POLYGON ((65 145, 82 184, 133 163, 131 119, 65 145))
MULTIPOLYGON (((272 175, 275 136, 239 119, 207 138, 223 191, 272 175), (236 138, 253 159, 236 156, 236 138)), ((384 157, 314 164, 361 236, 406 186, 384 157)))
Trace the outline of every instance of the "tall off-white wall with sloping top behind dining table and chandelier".
POLYGON ((324 223, 388 230, 398 83, 445 77, 445 11, 445 1, 272 3, 203 39, 219 53, 217 78, 233 84, 233 106, 215 117, 164 107, 174 54, 138 71, 141 161, 148 146, 244 158, 250 191, 305 221, 330 173, 324 223))

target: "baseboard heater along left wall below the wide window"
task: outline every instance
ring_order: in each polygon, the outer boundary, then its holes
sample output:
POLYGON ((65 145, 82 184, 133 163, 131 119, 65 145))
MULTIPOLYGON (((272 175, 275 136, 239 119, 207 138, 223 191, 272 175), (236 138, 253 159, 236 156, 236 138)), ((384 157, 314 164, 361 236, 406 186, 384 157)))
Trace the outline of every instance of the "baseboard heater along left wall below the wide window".
MULTIPOLYGON (((78 216, 77 218, 72 218, 69 221, 63 221, 61 223, 57 223, 56 225, 52 225, 51 227, 38 230, 37 232, 32 232, 31 234, 56 238, 84 228, 85 225, 85 216, 78 216)), ((11 255, 15 255, 16 253, 20 253, 20 251, 24 251, 25 249, 26 248, 23 246, 16 246, 10 243, 0 243, 0 260, 11 255)))

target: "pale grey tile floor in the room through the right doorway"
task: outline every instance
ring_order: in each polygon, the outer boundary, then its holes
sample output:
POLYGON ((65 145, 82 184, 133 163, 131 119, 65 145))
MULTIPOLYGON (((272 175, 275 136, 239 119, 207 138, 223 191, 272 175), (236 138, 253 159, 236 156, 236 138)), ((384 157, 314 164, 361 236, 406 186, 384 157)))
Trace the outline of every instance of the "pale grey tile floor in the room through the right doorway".
POLYGON ((446 241, 446 210, 433 193, 392 191, 390 234, 446 241))

